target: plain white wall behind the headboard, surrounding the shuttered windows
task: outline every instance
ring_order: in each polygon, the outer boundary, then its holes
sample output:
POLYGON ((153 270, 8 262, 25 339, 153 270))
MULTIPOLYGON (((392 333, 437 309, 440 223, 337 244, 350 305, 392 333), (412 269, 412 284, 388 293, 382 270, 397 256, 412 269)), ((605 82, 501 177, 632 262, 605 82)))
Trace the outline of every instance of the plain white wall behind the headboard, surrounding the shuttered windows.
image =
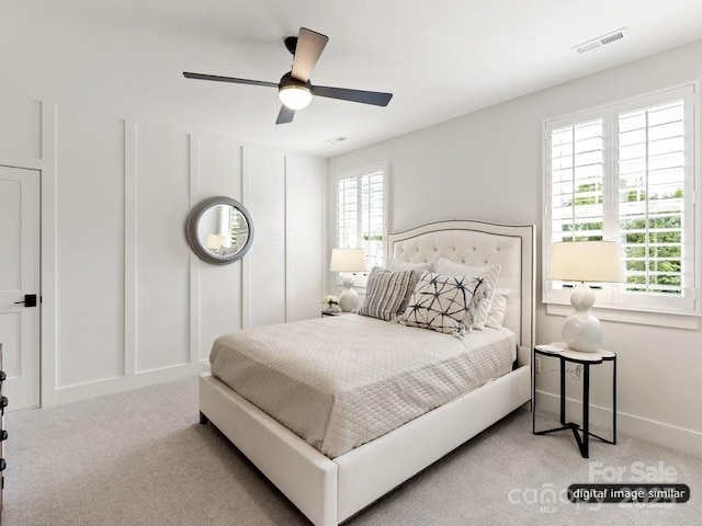
MULTIPOLYGON (((388 161, 390 231, 456 218, 528 222, 541 229, 544 119, 701 78, 702 41, 332 158, 329 180, 344 170, 388 161)), ((331 188, 327 196, 332 221, 331 188)), ((541 293, 541 282, 537 288, 541 293)), ((563 321, 540 304, 537 341, 559 340, 563 321)), ((604 322, 603 331, 604 346, 619 354, 620 431, 702 453, 702 331, 615 322, 604 322)), ((591 400, 603 408, 610 407, 608 374, 592 373, 591 400)), ((546 366, 537 385, 557 392, 556 378, 546 366)), ((578 398, 580 388, 569 395, 578 398)), ((544 402, 553 401, 544 397, 544 402)), ((596 411, 595 416, 604 423, 608 414, 596 411)))

